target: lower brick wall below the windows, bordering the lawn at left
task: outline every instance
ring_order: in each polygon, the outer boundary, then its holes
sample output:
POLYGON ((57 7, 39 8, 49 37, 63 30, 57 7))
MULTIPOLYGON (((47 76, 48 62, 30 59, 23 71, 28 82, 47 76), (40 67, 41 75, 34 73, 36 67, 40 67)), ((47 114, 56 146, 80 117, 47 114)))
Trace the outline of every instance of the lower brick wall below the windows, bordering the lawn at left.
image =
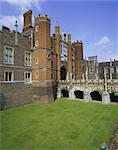
POLYGON ((56 98, 56 82, 53 82, 51 86, 44 88, 32 87, 31 84, 24 83, 1 83, 0 86, 0 109, 6 109, 32 102, 49 103, 56 98), (35 95, 38 95, 38 97, 35 97, 35 95))

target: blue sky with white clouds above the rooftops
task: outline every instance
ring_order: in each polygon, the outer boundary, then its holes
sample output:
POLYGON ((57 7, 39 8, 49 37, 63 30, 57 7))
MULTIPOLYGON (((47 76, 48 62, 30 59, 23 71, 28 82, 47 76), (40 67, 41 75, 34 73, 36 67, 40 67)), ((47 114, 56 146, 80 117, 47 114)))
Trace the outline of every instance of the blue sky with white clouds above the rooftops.
POLYGON ((98 61, 118 60, 117 0, 0 0, 2 25, 14 29, 18 21, 22 31, 23 13, 33 11, 33 18, 47 14, 51 18, 51 34, 60 25, 61 32, 71 33, 71 40, 82 40, 84 58, 98 61))

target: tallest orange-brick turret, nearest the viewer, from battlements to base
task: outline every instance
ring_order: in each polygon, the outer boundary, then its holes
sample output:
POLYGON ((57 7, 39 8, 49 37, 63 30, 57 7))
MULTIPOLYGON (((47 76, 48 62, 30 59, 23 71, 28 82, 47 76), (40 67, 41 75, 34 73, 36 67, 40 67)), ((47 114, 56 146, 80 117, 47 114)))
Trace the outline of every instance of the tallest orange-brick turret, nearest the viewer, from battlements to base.
POLYGON ((35 18, 35 48, 32 53, 32 86, 39 92, 35 101, 51 102, 54 100, 51 80, 51 38, 50 19, 47 15, 35 18))

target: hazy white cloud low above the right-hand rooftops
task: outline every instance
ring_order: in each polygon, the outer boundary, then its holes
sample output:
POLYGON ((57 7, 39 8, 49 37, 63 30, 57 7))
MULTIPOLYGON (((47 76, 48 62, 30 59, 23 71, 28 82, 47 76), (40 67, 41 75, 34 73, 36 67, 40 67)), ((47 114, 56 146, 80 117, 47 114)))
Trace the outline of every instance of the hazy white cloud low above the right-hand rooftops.
POLYGON ((102 36, 98 40, 94 39, 87 45, 88 55, 97 55, 99 61, 109 61, 110 58, 118 60, 117 46, 108 36, 102 36))

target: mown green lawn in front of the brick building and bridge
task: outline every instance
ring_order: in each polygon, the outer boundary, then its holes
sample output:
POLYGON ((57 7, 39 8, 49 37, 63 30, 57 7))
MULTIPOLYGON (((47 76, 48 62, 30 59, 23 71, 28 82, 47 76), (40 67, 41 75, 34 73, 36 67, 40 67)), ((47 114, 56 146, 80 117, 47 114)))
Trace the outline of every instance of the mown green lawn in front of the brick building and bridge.
POLYGON ((118 105, 61 99, 0 115, 1 150, 100 150, 118 123, 118 105))

